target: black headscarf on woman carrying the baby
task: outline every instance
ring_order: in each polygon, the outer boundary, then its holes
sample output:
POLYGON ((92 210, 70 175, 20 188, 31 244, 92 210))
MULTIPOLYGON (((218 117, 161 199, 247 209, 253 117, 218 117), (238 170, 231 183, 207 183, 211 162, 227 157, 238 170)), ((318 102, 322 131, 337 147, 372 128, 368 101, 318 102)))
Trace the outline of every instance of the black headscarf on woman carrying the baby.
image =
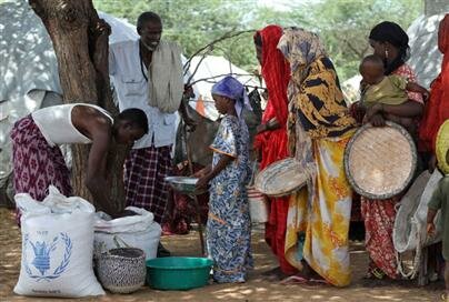
POLYGON ((401 67, 410 57, 409 37, 403 29, 395 22, 383 21, 371 29, 369 39, 377 42, 389 42, 398 49, 398 57, 387 64, 385 74, 390 74, 401 67))

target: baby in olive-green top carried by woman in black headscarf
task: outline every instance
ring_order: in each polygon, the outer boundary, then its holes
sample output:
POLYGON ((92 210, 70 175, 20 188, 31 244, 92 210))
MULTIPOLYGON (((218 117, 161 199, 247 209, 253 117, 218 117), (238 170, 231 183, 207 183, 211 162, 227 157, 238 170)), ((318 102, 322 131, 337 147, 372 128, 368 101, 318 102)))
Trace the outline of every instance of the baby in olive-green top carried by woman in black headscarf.
MULTIPOLYGON (((429 97, 429 92, 421 85, 409 82, 406 78, 390 74, 385 76, 383 62, 377 56, 366 57, 359 68, 362 77, 361 81, 361 103, 366 108, 373 105, 390 104, 397 105, 408 100, 407 90, 423 94, 425 99, 429 97)), ((383 111, 383 110, 380 110, 383 111)), ((409 129, 413 119, 403 118, 393 114, 383 114, 385 119, 399 123, 409 129)), ((369 117, 367 117, 369 118, 369 117)))

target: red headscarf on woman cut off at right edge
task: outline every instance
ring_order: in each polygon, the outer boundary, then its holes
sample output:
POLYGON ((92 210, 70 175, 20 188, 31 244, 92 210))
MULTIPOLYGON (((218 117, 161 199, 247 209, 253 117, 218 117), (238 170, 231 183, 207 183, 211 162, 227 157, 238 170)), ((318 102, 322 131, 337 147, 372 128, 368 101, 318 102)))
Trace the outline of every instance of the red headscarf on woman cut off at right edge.
POLYGON ((430 98, 426 103, 419 129, 419 138, 425 149, 433 152, 438 129, 449 119, 449 14, 440 22, 438 49, 443 54, 441 72, 430 85, 430 98))

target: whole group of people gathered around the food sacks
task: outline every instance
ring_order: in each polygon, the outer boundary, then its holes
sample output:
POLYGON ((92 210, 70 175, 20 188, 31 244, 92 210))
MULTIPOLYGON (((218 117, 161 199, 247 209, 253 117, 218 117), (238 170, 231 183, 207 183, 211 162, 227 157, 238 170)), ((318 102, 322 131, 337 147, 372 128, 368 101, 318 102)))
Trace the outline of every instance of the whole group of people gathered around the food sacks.
MULTIPOLYGON (((69 171, 56 145, 91 142, 87 187, 94 201, 108 210, 104 154, 112 141, 133 142, 124 163, 127 205, 144 208, 162 223, 176 111, 186 123, 192 121, 181 102, 184 88, 179 47, 161 40, 162 21, 153 12, 139 17, 137 31, 138 41, 110 49, 109 70, 121 111, 117 119, 100 108, 71 104, 58 111, 39 110, 14 125, 16 192, 42 200, 48 185, 53 184, 70 195, 69 171), (56 123, 61 127, 52 127, 56 123)), ((197 187, 208 187, 210 193, 207 245, 214 261, 213 279, 220 283, 245 282, 252 266, 246 184, 251 175, 249 150, 255 149, 260 169, 295 157, 309 173, 307 185, 299 191, 269 198, 265 235, 279 268, 267 274, 346 286, 351 282, 348 232, 352 190, 343 169, 345 148, 360 124, 383 127, 386 121, 393 121, 403 125, 418 145, 418 171, 436 169, 436 135, 449 119, 449 16, 439 27, 438 47, 443 61, 430 93, 417 83, 406 63, 410 51, 407 33, 397 23, 385 21, 369 32, 373 53, 360 64, 361 100, 350 108, 336 68, 316 33, 267 26, 255 33, 253 42, 269 95, 255 143, 249 145, 241 115, 245 108, 250 108, 246 89, 235 78, 226 77, 211 91, 223 115, 210 145, 213 160, 194 174, 199 178, 197 187)), ((438 209, 443 211, 448 234, 448 188, 445 179, 429 204, 430 234, 438 209)), ((361 197, 370 258, 367 278, 399 278, 392 228, 400 198, 361 197)), ((446 263, 448 241, 446 235, 446 263)), ((447 292, 448 274, 447 264, 447 292)))

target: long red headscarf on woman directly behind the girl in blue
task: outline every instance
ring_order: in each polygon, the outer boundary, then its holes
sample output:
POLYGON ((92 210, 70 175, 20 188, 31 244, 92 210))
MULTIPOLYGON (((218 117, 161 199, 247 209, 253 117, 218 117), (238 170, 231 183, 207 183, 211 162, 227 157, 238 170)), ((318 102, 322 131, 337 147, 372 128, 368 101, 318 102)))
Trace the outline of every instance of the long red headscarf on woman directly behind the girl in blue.
POLYGON ((282 28, 268 26, 256 34, 262 39, 262 77, 268 89, 268 103, 262 122, 276 117, 279 124, 283 125, 288 115, 287 85, 290 80, 290 68, 277 48, 282 28))

